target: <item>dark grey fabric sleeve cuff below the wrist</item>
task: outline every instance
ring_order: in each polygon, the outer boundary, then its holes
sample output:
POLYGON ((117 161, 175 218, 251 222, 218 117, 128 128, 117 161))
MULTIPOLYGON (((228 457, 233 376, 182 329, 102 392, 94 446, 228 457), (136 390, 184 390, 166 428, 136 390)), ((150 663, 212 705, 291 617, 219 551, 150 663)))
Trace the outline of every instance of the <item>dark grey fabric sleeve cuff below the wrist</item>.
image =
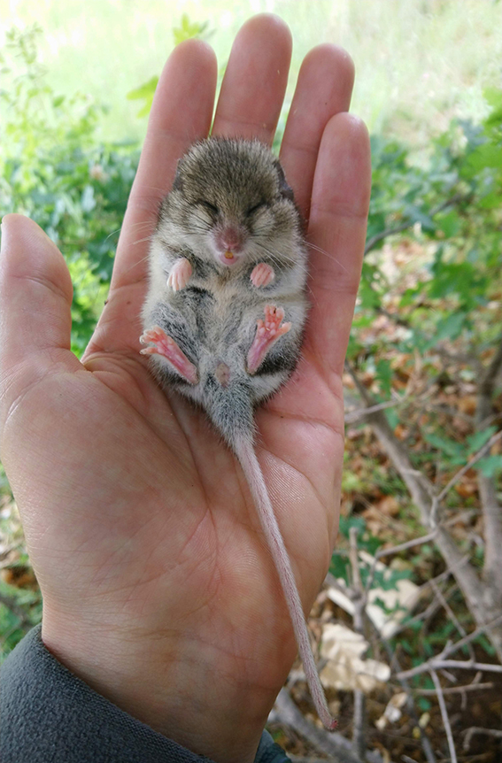
MULTIPOLYGON (((120 710, 70 673, 37 626, 0 673, 2 763, 212 763, 120 710)), ((289 759, 264 732, 255 763, 289 759)))

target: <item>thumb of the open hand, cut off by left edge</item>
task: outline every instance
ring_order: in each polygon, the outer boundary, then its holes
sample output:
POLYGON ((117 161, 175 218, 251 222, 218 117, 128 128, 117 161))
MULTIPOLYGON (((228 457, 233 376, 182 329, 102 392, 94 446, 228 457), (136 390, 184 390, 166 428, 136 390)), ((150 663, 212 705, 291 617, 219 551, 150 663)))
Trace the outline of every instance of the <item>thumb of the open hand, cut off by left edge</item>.
POLYGON ((0 400, 7 407, 49 366, 78 364, 69 351, 72 297, 58 247, 33 220, 6 215, 0 253, 0 400))

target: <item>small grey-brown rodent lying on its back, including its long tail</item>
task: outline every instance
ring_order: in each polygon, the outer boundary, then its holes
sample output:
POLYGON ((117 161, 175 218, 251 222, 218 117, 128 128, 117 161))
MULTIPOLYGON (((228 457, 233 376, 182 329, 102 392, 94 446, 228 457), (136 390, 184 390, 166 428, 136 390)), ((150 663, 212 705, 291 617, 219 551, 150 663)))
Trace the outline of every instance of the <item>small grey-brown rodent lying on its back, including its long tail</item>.
POLYGON ((239 459, 314 704, 324 725, 335 728, 253 444, 255 407, 297 365, 308 309, 306 260, 293 192, 272 151, 241 139, 194 143, 158 213, 140 341, 159 382, 202 406, 239 459))

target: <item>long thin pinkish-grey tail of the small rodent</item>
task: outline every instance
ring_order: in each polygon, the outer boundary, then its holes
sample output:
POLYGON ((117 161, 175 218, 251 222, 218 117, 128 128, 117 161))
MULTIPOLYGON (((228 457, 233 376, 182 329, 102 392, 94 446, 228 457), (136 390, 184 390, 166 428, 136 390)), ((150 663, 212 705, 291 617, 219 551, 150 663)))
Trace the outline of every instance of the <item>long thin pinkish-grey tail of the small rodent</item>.
POLYGON ((240 437, 234 444, 234 447, 237 458, 243 467, 243 473, 251 488, 251 494, 259 512, 261 527, 272 551, 274 563, 281 579, 282 590, 290 610, 290 617, 297 638, 298 651, 304 665, 306 680, 313 697, 313 704, 326 728, 333 730, 337 726, 337 721, 329 713, 328 703, 326 702, 324 690, 317 674, 302 603, 298 596, 297 583, 291 569, 290 557, 282 540, 281 530, 275 519, 274 509, 268 497, 259 461, 256 458, 251 440, 246 441, 243 437, 240 437))

